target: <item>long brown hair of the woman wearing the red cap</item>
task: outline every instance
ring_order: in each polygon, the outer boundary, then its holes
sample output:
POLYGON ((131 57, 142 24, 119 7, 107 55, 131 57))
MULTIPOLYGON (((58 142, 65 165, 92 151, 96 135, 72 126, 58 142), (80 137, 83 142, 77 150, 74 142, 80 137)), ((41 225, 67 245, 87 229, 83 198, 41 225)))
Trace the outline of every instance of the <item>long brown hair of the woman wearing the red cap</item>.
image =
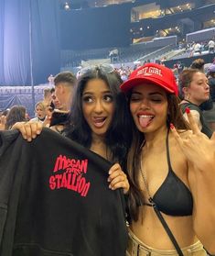
MULTIPOLYGON (((129 101, 130 101, 130 95, 129 101)), ((188 122, 184 119, 178 106, 179 98, 173 94, 167 94, 168 114, 167 128, 172 123, 177 130, 188 130, 188 122)), ((127 172, 129 174, 130 191, 128 196, 128 208, 131 219, 138 220, 139 206, 145 203, 145 198, 139 187, 138 177, 141 168, 141 150, 145 142, 144 133, 140 132, 132 121, 133 141, 127 158, 127 172)))

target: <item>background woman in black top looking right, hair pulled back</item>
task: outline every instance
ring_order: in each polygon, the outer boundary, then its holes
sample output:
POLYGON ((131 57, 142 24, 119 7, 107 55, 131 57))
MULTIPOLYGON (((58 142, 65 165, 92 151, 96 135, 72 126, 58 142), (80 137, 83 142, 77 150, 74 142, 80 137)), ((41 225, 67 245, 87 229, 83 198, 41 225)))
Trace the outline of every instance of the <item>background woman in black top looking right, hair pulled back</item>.
POLYGON ((208 78, 198 69, 187 69, 180 73, 178 83, 183 97, 179 106, 184 117, 188 120, 185 111, 188 107, 201 132, 205 133, 210 138, 212 131, 208 127, 203 112, 199 107, 210 98, 208 78))

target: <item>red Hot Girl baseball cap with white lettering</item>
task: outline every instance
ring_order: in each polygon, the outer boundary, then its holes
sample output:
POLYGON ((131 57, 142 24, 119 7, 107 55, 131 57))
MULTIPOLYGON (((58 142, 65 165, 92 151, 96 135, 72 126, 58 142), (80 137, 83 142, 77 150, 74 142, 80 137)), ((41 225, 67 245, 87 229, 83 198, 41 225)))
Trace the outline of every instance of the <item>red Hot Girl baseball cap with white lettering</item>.
POLYGON ((174 73, 163 65, 146 63, 131 73, 129 79, 121 84, 120 89, 128 93, 136 85, 153 83, 164 88, 168 93, 178 95, 174 73))

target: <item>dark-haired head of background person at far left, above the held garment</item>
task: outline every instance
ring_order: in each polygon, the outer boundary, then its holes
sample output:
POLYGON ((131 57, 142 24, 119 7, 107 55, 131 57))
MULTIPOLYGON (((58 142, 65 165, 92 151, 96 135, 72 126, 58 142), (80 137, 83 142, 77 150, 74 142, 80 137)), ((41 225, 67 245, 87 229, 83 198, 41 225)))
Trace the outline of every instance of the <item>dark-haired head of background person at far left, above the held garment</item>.
POLYGON ((11 129, 16 122, 27 122, 28 120, 25 106, 12 106, 5 118, 5 129, 11 129))

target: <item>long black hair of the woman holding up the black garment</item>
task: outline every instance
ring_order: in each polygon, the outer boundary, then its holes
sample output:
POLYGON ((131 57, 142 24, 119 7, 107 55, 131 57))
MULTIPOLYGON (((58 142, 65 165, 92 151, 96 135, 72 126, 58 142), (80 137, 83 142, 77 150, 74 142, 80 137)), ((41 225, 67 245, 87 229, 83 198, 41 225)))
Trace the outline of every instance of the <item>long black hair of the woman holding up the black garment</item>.
POLYGON ((105 135, 105 143, 112 155, 109 161, 119 161, 124 165, 132 132, 126 97, 119 88, 122 80, 117 72, 103 72, 102 69, 95 68, 81 75, 73 91, 70 127, 66 129, 66 136, 86 148, 91 147, 91 128, 83 117, 81 97, 86 84, 92 79, 102 79, 113 95, 114 113, 105 135))

